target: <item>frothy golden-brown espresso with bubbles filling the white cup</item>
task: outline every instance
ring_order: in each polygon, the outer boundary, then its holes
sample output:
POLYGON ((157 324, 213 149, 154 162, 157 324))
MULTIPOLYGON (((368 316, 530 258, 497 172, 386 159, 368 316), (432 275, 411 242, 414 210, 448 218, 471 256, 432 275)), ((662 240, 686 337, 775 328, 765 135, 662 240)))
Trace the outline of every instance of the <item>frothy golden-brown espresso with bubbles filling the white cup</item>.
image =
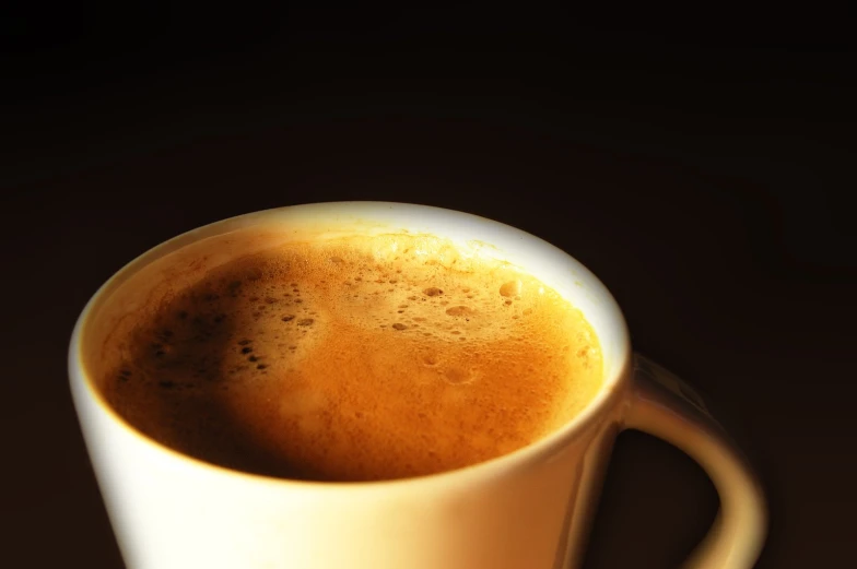
POLYGON ((129 310, 99 358, 104 398, 149 437, 317 481, 512 452, 579 413, 602 375, 595 332, 556 292, 413 235, 278 242, 207 268, 129 310))

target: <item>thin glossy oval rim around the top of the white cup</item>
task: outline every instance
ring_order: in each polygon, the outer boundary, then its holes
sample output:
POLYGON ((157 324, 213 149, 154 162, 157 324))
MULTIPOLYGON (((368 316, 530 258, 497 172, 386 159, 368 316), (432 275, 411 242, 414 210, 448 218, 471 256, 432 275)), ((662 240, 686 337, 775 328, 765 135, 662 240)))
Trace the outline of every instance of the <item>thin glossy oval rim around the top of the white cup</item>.
MULTIPOLYGON (((439 236, 444 237, 442 234, 439 236)), ((412 487, 414 485, 443 484, 453 479, 466 482, 468 479, 481 478, 483 476, 493 477, 498 476, 508 470, 514 470, 516 467, 530 464, 540 459, 543 460, 545 457, 552 457, 576 440, 584 432, 586 432, 588 430, 587 427, 598 422, 606 413, 609 412, 610 408, 614 406, 614 403, 622 396, 623 388, 629 382, 632 370, 631 356, 632 351, 629 340, 627 324, 612 294, 608 291, 603 283, 601 283, 601 281, 583 263, 577 261, 570 253, 556 248, 544 239, 495 220, 434 205, 381 201, 331 201, 271 208, 226 217, 209 224, 204 224, 188 232, 184 232, 143 251, 137 258, 129 261, 122 268, 116 271, 107 281, 105 281, 84 306, 75 321, 74 329, 71 334, 68 352, 68 370, 72 399, 75 411, 79 415, 79 419, 81 418, 81 414, 84 413, 84 407, 86 408, 86 412, 98 413, 106 417, 113 427, 124 431, 126 435, 126 440, 146 448, 150 452, 160 455, 163 460, 181 463, 185 466, 198 470, 200 473, 208 473, 211 476, 225 476, 235 481, 248 482, 250 484, 273 485, 280 488, 301 488, 304 490, 316 489, 320 491, 353 491, 355 489, 377 490, 391 487, 412 487), (603 304, 604 309, 611 312, 612 325, 617 327, 615 332, 621 340, 619 343, 619 349, 617 349, 618 353, 615 355, 618 364, 613 366, 613 372, 609 375, 604 372, 601 388, 583 411, 577 413, 568 422, 564 423, 560 428, 554 429, 549 435, 520 449, 502 454, 500 457, 495 457, 493 459, 489 459, 483 462, 447 470, 439 473, 379 481, 331 482, 292 479, 221 466, 219 464, 210 463, 179 452, 144 435, 142 431, 138 430, 134 426, 128 423, 105 401, 103 395, 99 393, 99 390, 95 387, 93 379, 86 372, 81 357, 83 331, 90 321, 91 313, 95 305, 102 299, 102 297, 109 294, 114 287, 119 286, 124 280, 131 277, 136 272, 144 268, 150 262, 155 261, 156 259, 161 258, 161 256, 168 253, 171 250, 175 250, 195 242, 200 236, 206 236, 208 232, 212 232, 220 226, 227 226, 230 224, 235 224, 236 222, 253 222, 256 218, 265 218, 285 211, 300 213, 301 211, 310 212, 313 210, 320 209, 334 209, 347 213, 360 212, 362 216, 365 215, 369 218, 372 218, 372 213, 369 212, 378 212, 381 210, 396 210, 397 213, 401 212, 401 214, 404 214, 406 212, 421 212, 436 215, 449 215, 460 220, 469 220, 479 224, 486 224, 486 226, 491 226, 498 230, 508 232, 521 239, 529 240, 532 244, 538 245, 540 248, 545 248, 547 250, 553 250, 554 253, 560 253, 570 262, 574 263, 575 269, 578 272, 586 273, 590 282, 600 287, 599 298, 603 304)))

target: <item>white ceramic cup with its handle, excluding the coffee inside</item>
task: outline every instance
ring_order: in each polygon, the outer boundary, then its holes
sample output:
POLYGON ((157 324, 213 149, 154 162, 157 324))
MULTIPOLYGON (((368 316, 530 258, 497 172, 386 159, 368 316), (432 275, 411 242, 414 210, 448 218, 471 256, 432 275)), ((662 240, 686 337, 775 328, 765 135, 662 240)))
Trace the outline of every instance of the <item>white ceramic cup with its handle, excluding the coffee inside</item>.
MULTIPOLYGON (((297 237, 295 237, 297 238, 297 237)), ((460 212, 380 202, 296 205, 218 222, 145 252, 81 313, 69 353, 71 391, 125 562, 134 569, 571 569, 617 435, 650 432, 695 459, 720 511, 688 567, 750 568, 767 526, 753 471, 690 388, 635 355, 624 318, 584 265, 525 232, 460 212), (176 261, 227 260, 230 233, 274 225, 289 236, 407 230, 507 260, 583 310, 603 352, 603 388, 549 437, 442 474, 375 483, 277 479, 177 453, 127 424, 99 393, 98 346, 110 319, 133 311, 176 261), (193 245, 222 239, 220 256, 193 245), (185 259, 181 260, 181 256, 185 259), (146 278, 134 278, 148 271, 146 278)))

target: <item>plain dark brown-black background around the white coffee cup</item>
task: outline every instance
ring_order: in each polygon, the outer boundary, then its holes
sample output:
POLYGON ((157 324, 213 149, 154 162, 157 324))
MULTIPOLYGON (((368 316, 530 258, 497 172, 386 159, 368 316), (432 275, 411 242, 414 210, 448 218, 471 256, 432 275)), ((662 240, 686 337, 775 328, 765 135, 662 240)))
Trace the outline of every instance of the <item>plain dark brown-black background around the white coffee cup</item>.
MULTIPOLYGON (((841 14, 146 5, 0 17, 4 555, 121 567, 64 369, 104 280, 225 216, 372 199, 493 217, 586 263, 636 348, 707 393, 758 461, 759 567, 853 557, 841 14)), ((716 508, 694 463, 626 432, 585 567, 672 567, 716 508)))

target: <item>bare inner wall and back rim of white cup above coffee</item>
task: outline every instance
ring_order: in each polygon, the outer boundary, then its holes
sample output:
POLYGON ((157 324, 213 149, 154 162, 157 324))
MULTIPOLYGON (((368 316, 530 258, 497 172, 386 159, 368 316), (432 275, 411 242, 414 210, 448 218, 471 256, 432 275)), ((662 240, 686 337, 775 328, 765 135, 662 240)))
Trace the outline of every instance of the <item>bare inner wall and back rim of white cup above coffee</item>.
MULTIPOLYGON (((110 361, 102 347, 108 334, 146 307, 230 260, 290 240, 353 235, 428 234, 455 244, 465 256, 500 260, 536 276, 582 310, 602 352, 602 388, 583 413, 543 441, 568 436, 590 420, 626 376, 630 343, 624 318, 604 285, 582 263, 549 242, 520 229, 472 214, 414 204, 339 202, 287 206, 216 222, 171 239, 131 261, 94 295, 75 328, 71 365, 105 412, 98 372, 110 361), (254 239, 236 238, 253 229, 254 239)), ((74 381, 75 374, 72 374, 74 381)), ((130 428, 130 427, 129 427, 130 428)), ((554 441, 555 442, 555 441, 554 441)), ((529 448, 523 449, 527 452, 529 448)), ((521 451, 517 451, 521 452, 521 451)), ((515 454, 515 453, 513 453, 515 454)))

